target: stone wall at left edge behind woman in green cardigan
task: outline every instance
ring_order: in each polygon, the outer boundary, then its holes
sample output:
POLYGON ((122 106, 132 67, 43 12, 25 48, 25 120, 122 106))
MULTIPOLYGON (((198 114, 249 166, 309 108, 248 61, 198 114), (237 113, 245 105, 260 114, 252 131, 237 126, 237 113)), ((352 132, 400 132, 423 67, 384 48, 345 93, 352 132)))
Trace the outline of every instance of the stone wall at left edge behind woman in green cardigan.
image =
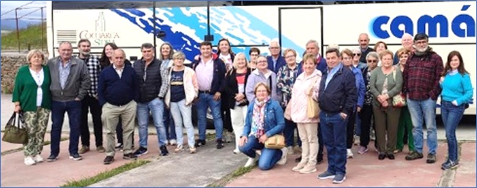
POLYGON ((26 54, 1 54, 1 93, 12 93, 16 72, 27 64, 26 54))

